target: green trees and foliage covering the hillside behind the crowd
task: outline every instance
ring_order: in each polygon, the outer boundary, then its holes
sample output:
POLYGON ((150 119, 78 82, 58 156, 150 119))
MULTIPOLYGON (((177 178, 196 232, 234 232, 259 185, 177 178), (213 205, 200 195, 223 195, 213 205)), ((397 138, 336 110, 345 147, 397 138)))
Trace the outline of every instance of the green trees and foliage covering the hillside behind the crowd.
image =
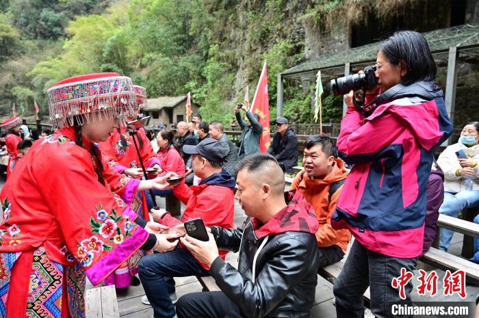
MULTIPOLYGON (((303 39, 292 36, 298 17, 341 1, 16 0, 5 9, 0 0, 0 105, 36 98, 46 107, 45 93, 60 79, 113 71, 149 97, 192 92, 205 120, 227 126, 246 85, 253 101, 266 60, 274 120, 277 77, 304 58, 303 39)), ((313 93, 303 85, 284 83, 284 112, 312 122, 313 93)), ((337 109, 324 98, 324 118, 337 109)))

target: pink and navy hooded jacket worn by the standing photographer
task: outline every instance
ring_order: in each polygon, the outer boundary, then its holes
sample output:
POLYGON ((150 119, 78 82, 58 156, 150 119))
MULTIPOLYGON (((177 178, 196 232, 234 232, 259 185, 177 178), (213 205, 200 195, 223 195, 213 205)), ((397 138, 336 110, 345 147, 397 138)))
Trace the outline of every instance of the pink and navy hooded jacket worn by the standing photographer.
POLYGON ((434 149, 452 125, 435 83, 394 88, 396 94, 367 118, 349 107, 341 121, 339 157, 354 166, 331 225, 348 228, 373 252, 414 258, 422 253, 434 149))

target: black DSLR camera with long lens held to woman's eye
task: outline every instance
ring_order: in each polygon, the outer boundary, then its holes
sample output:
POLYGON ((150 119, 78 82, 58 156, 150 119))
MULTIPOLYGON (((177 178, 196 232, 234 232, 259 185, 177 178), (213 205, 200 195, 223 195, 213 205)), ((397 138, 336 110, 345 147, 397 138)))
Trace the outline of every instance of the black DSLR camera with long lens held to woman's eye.
POLYGON ((331 89, 335 96, 348 94, 350 90, 367 90, 369 88, 374 88, 378 83, 376 75, 374 72, 378 69, 378 66, 366 66, 363 69, 364 74, 354 74, 348 75, 345 77, 339 77, 337 79, 331 79, 331 89))

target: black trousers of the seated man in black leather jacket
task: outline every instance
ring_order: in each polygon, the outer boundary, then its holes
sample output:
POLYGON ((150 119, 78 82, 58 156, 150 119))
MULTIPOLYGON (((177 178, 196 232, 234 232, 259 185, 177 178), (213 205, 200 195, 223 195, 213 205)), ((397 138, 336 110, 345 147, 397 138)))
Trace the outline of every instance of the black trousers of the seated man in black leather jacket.
POLYGON ((222 291, 189 293, 176 307, 178 318, 249 318, 222 291))

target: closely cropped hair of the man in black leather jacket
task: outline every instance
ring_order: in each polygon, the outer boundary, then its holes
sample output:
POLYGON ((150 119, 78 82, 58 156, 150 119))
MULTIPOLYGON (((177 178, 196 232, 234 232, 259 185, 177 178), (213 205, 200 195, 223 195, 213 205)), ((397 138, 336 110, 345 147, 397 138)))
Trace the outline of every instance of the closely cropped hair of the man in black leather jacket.
POLYGON ((278 161, 272 155, 255 153, 239 160, 236 163, 236 171, 246 170, 254 174, 255 180, 268 183, 276 196, 283 196, 285 191, 285 174, 278 161))

